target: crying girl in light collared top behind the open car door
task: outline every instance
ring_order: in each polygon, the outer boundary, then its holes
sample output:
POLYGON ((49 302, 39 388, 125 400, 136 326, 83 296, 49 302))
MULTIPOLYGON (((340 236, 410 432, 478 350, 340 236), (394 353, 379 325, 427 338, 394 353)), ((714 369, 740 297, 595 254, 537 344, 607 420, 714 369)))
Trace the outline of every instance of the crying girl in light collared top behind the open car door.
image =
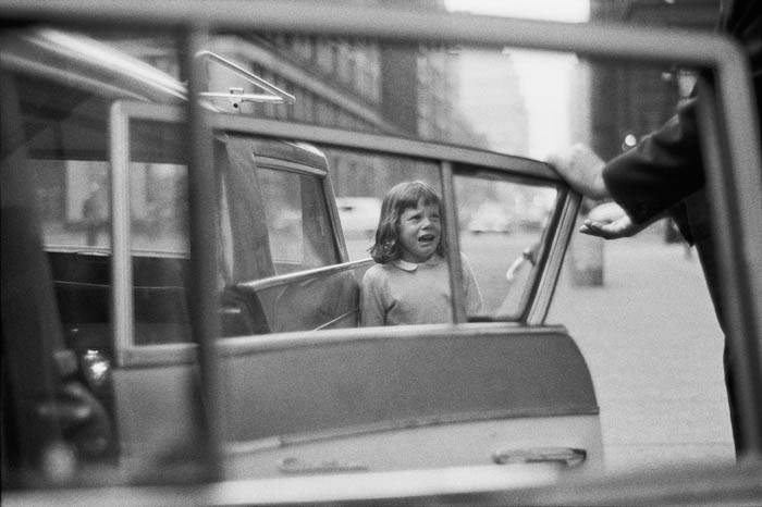
MULTIPOLYGON (((389 190, 370 252, 377 264, 362 279, 362 325, 453 321, 442 201, 431 186, 405 182, 389 190)), ((463 256, 462 265, 466 312, 478 314, 481 293, 463 256)))

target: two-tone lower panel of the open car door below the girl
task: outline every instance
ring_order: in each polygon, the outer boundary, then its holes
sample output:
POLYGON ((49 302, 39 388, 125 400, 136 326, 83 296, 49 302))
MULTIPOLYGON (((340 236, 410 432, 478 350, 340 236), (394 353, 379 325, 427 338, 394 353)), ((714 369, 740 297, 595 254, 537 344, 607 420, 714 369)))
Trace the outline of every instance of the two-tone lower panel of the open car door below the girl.
POLYGON ((233 473, 291 473, 278 465, 291 458, 470 465, 543 447, 582 448, 601 465, 592 382, 563 329, 395 331, 231 343, 222 370, 233 473))

